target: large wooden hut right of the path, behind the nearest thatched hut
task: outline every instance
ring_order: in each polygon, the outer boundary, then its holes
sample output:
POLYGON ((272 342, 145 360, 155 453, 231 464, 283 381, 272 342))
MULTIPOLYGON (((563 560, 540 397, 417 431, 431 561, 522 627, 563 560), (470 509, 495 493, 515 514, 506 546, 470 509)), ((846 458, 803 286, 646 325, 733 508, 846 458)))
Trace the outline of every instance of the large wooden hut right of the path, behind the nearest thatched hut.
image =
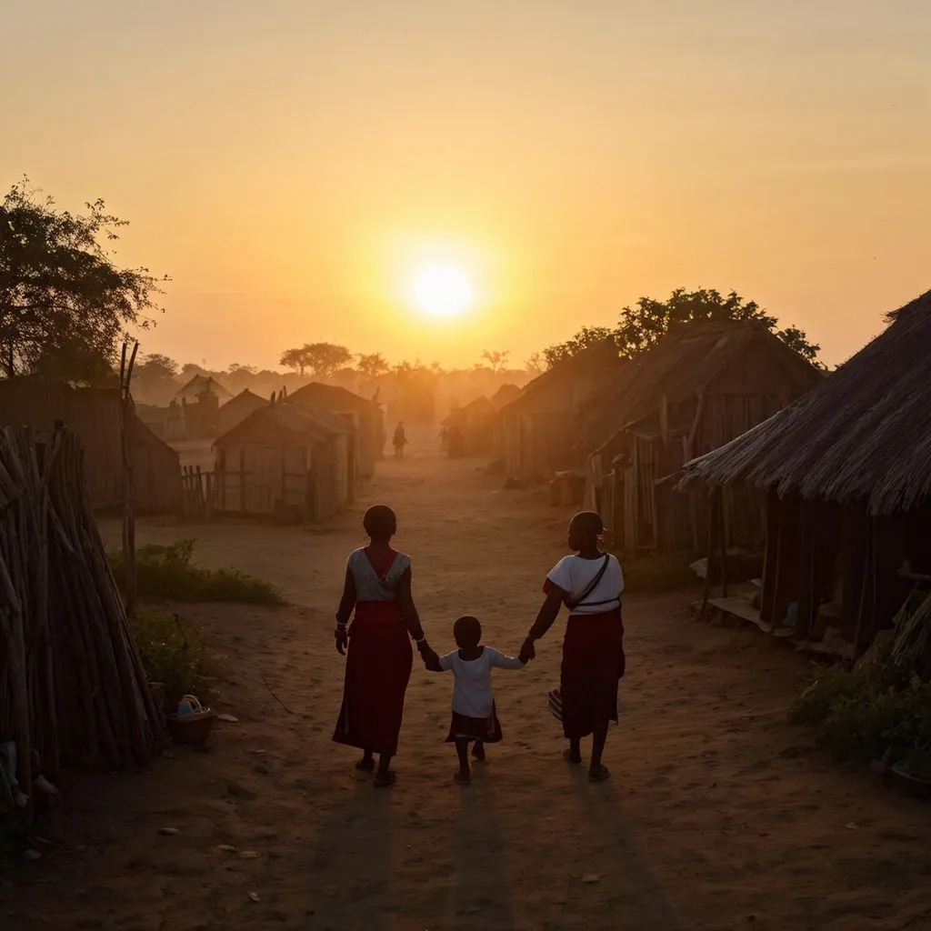
MULTIPOLYGON (((697 551, 708 512, 670 477, 801 397, 823 373, 758 323, 673 327, 583 405, 586 503, 627 554, 697 551)), ((758 496, 729 495, 729 519, 762 547, 758 496)))

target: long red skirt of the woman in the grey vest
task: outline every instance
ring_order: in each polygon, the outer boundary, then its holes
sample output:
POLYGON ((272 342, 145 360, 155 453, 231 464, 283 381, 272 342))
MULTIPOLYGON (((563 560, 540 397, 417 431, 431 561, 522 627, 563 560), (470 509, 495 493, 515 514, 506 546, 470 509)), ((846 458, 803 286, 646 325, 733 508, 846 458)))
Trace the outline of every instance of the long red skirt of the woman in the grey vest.
POLYGON ((398 752, 413 650, 394 601, 359 601, 349 627, 343 707, 333 740, 349 747, 398 752))

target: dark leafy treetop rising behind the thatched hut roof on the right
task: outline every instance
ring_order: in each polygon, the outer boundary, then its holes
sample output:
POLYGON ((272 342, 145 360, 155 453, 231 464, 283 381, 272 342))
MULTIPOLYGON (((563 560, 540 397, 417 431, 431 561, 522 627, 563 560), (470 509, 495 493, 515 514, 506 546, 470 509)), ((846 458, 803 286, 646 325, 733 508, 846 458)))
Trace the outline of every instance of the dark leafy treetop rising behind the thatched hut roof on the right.
POLYGON ((755 320, 773 332, 800 356, 815 361, 820 346, 810 343, 798 327, 776 330, 776 317, 767 314, 755 301, 747 301, 736 291, 722 294, 705 288, 687 291, 677 288, 666 301, 641 297, 633 307, 621 311, 620 324, 615 333, 622 356, 632 358, 653 345, 670 325, 693 320, 755 320))

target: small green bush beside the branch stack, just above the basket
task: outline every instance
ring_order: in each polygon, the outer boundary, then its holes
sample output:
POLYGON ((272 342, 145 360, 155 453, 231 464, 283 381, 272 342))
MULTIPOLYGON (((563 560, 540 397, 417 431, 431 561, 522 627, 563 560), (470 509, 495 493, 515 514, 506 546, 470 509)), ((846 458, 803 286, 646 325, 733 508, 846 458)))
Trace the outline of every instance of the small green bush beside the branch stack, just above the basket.
POLYGON ((129 618, 142 668, 152 682, 163 682, 169 700, 209 695, 207 647, 203 628, 155 608, 141 608, 129 618))

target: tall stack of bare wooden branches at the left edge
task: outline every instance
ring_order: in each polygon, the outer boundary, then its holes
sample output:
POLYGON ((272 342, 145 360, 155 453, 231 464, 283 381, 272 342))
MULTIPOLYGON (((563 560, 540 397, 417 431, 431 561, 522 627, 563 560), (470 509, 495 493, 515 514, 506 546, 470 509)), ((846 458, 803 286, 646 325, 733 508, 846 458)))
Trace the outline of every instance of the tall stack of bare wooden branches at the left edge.
POLYGON ((33 749, 51 776, 148 762, 155 721, 80 439, 0 429, 0 740, 16 741, 20 785, 33 749))

